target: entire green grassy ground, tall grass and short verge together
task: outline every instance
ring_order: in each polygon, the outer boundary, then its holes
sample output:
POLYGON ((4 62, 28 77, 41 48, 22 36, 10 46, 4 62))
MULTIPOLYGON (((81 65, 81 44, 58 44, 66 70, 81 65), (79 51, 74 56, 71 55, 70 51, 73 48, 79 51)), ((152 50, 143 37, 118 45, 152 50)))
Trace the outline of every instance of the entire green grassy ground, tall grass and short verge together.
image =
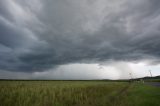
POLYGON ((107 81, 0 81, 0 106, 160 106, 160 88, 107 81))

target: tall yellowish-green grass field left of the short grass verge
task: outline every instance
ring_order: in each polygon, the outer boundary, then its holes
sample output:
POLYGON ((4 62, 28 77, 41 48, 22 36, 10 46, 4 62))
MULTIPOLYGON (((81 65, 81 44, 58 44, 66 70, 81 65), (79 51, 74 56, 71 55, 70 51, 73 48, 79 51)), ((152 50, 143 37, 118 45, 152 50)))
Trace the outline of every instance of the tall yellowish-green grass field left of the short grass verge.
POLYGON ((125 83, 1 81, 0 106, 106 106, 125 83))

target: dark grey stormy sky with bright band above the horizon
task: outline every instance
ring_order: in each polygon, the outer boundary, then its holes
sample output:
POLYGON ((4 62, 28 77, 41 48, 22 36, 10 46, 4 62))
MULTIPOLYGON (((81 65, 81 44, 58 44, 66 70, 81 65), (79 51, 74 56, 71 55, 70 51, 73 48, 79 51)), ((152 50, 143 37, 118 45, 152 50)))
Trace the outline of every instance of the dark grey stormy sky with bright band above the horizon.
POLYGON ((1 0, 0 78, 160 75, 160 0, 1 0))

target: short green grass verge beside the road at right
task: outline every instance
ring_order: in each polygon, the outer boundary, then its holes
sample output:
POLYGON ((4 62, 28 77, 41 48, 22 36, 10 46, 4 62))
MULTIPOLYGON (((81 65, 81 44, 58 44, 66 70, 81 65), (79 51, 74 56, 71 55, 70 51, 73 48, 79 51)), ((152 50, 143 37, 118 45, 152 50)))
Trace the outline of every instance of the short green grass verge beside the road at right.
POLYGON ((127 106, 160 106, 160 87, 134 84, 128 90, 125 101, 127 106))

